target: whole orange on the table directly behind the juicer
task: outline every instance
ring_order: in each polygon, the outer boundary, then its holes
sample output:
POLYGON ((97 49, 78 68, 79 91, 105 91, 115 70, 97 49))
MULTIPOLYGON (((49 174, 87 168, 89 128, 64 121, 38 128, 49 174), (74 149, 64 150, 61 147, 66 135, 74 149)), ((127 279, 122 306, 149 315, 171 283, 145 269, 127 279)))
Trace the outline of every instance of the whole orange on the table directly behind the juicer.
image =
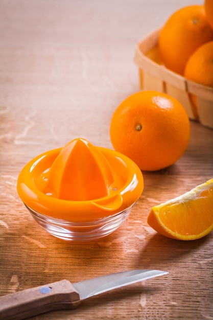
POLYGON ((174 164, 190 140, 190 121, 176 99, 142 91, 125 99, 110 123, 111 143, 141 170, 155 171, 174 164))

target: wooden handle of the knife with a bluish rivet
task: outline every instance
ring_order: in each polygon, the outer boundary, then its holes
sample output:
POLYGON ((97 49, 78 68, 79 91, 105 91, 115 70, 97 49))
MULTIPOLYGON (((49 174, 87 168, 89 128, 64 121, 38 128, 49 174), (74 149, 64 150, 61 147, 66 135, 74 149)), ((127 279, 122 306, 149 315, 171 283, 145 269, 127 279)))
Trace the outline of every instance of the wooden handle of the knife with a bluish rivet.
POLYGON ((74 309, 80 296, 73 285, 61 280, 0 297, 0 319, 22 320, 59 309, 74 309))

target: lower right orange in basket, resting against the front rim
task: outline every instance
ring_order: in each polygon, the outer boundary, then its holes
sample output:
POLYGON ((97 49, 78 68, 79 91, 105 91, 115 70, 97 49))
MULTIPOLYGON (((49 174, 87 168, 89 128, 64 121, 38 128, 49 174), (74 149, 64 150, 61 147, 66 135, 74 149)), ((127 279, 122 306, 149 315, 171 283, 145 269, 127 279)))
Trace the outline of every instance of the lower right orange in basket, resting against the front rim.
POLYGON ((201 45, 188 59, 184 76, 189 80, 213 87, 213 41, 201 45))

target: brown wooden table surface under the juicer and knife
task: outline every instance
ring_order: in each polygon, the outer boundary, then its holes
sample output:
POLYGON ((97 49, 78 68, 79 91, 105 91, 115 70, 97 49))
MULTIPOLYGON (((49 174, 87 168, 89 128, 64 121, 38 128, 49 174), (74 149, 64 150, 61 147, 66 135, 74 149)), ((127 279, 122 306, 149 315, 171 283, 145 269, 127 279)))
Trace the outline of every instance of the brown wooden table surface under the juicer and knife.
POLYGON ((191 122, 184 155, 170 168, 144 172, 144 192, 127 221, 97 241, 49 235, 16 192, 21 168, 46 150, 78 137, 112 148, 112 113, 139 89, 136 42, 177 8, 199 3, 0 1, 0 294, 129 269, 169 271, 34 319, 213 318, 213 233, 181 242, 147 224, 153 205, 213 177, 213 130, 191 122))

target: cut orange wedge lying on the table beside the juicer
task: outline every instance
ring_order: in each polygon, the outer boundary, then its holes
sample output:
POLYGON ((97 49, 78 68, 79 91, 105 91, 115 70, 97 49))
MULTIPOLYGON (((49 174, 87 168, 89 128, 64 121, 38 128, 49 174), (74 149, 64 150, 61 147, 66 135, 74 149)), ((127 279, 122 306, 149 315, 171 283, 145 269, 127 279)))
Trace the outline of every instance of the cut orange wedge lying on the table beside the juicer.
POLYGON ((213 178, 183 195, 153 207, 148 224, 159 234, 196 240, 213 230, 213 178))

